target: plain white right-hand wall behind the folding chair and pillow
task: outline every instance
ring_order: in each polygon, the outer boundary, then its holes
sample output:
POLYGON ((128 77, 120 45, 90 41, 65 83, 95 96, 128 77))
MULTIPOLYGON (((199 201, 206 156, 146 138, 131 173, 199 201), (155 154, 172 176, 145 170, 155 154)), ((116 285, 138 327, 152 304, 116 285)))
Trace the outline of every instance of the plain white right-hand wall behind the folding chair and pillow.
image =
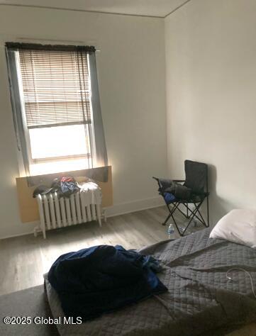
POLYGON ((211 164, 211 222, 256 207, 256 1, 192 0, 165 19, 169 175, 211 164))

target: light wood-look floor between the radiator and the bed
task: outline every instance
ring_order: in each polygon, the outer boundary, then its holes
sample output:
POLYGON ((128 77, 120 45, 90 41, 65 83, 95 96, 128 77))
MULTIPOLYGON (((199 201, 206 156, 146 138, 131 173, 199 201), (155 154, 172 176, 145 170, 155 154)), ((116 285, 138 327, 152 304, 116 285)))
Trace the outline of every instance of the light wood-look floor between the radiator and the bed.
MULTIPOLYGON (((165 207, 159 207, 108 218, 101 228, 93 222, 50 231, 46 240, 41 235, 0 240, 0 295, 43 284, 43 274, 65 252, 101 244, 139 249, 166 240, 167 227, 161 225, 166 216, 165 207)), ((256 323, 231 335, 256 336, 256 323)))

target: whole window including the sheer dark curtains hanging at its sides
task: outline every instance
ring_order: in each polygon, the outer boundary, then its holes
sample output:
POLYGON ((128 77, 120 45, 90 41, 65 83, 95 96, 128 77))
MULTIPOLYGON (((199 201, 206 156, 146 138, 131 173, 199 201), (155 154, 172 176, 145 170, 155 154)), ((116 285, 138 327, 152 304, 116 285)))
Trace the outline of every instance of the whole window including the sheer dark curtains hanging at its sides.
POLYGON ((21 43, 6 47, 13 119, 29 174, 99 166, 97 154, 99 158, 106 145, 94 47, 21 43))

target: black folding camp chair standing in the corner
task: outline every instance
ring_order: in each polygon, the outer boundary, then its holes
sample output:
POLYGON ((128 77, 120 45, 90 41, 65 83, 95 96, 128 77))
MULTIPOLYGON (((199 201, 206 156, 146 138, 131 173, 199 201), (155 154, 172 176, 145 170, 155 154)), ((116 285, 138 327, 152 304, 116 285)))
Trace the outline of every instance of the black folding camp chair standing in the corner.
POLYGON ((185 160, 185 180, 167 180, 167 179, 160 179, 157 177, 153 177, 153 179, 157 180, 159 186, 159 194, 164 198, 165 203, 167 205, 169 215, 167 216, 166 220, 162 225, 166 225, 169 218, 172 218, 174 225, 176 226, 179 235, 184 236, 184 233, 189 228, 189 225, 193 222, 194 218, 199 220, 206 228, 209 226, 209 203, 208 203, 208 167, 207 164, 201 162, 194 162, 190 160, 185 160), (189 198, 187 199, 179 199, 175 197, 171 192, 168 190, 170 186, 184 186, 187 188, 183 188, 185 191, 189 191, 189 198), (203 215, 200 212, 200 207, 204 200, 206 199, 206 220, 204 220, 203 215), (184 212, 183 209, 179 208, 180 205, 183 205, 186 209, 184 212), (191 208, 191 205, 194 208, 191 208), (182 213, 189 222, 184 230, 179 229, 179 225, 177 220, 174 218, 174 212, 179 211, 182 213))

